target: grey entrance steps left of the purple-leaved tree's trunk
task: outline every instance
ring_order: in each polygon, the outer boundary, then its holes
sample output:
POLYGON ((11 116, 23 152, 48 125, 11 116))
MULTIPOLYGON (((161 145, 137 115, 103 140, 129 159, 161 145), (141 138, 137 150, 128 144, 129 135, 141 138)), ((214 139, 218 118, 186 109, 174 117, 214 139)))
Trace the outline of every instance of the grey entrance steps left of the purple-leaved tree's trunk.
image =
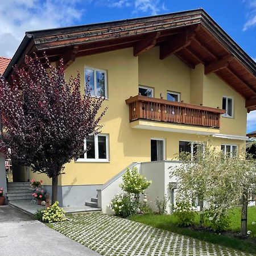
POLYGON ((11 182, 7 184, 7 199, 9 202, 18 200, 32 200, 30 182, 11 182))

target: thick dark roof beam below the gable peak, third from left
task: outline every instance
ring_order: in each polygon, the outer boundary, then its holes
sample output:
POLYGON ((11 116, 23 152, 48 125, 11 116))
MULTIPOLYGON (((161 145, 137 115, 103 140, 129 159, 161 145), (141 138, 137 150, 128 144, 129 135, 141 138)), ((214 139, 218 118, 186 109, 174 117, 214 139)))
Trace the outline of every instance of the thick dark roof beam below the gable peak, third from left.
POLYGON ((191 44, 190 38, 193 36, 193 33, 194 30, 187 30, 184 34, 176 35, 171 40, 160 45, 160 60, 189 46, 189 44, 191 44))

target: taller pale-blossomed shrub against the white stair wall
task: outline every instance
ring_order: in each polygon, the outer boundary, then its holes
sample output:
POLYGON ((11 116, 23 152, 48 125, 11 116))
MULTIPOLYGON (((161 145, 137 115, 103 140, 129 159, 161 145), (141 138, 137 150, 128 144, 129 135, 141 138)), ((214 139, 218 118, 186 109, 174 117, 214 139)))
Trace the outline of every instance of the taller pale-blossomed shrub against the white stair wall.
POLYGON ((127 193, 139 194, 147 189, 151 183, 151 180, 148 181, 146 177, 139 174, 136 167, 133 167, 131 170, 127 169, 123 175, 123 184, 120 187, 127 193))

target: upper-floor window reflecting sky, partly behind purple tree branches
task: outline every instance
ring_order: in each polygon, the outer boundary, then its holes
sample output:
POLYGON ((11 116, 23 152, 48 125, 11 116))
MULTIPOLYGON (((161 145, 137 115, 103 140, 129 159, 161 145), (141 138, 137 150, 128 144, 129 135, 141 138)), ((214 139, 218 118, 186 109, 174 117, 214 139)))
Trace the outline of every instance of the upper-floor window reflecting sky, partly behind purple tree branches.
POLYGON ((97 97, 107 96, 106 71, 85 68, 85 82, 88 83, 90 94, 97 97))

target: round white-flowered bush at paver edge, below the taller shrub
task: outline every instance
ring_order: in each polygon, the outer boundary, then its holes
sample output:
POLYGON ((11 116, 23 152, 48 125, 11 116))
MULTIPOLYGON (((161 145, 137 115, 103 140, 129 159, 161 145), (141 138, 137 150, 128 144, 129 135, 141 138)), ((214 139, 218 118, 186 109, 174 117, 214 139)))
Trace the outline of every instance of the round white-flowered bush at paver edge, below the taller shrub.
POLYGON ((137 213, 139 202, 130 194, 118 194, 110 201, 112 212, 120 217, 127 218, 137 213))

